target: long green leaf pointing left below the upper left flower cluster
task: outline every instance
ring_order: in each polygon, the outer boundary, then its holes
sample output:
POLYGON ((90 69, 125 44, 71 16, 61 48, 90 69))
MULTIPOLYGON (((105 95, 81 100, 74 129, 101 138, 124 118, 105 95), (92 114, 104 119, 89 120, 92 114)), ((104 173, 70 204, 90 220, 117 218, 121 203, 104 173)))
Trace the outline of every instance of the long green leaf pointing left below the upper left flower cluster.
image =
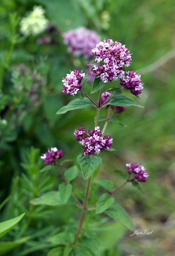
POLYGON ((64 114, 70 110, 74 109, 80 109, 80 108, 86 108, 91 106, 92 103, 88 98, 84 98, 84 102, 82 102, 80 99, 72 100, 68 103, 68 105, 60 108, 60 110, 57 112, 57 114, 64 114))

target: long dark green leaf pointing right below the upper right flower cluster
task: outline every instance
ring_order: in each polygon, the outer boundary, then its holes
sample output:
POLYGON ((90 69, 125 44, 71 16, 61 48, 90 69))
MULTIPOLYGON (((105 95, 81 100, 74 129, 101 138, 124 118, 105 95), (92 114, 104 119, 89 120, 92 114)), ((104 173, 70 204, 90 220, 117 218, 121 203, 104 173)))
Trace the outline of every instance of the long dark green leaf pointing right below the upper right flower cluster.
POLYGON ((138 108, 144 108, 143 106, 140 106, 137 102, 134 100, 124 96, 124 95, 116 95, 114 96, 109 102, 107 102, 107 105, 112 106, 123 106, 123 107, 138 107, 138 108))

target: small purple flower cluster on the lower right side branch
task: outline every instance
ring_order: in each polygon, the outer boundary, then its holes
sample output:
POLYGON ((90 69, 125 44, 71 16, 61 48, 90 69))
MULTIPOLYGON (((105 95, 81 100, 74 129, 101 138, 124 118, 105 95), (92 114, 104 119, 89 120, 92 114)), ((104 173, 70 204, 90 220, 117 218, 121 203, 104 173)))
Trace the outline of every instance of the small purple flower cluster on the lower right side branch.
POLYGON ((146 182, 148 178, 148 173, 146 171, 146 168, 143 167, 141 164, 126 164, 128 167, 129 174, 134 173, 134 178, 140 182, 146 182))

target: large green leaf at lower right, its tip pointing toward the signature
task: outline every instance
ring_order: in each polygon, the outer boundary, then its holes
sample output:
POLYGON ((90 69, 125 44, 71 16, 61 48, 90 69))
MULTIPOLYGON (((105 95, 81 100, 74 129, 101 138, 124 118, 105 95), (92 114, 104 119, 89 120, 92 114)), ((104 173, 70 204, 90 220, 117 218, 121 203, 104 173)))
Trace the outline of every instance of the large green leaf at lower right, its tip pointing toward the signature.
POLYGON ((109 209, 105 211, 105 213, 113 218, 114 220, 119 221, 123 226, 128 228, 131 231, 135 230, 135 227, 128 216, 128 214, 125 212, 123 207, 120 204, 113 204, 109 209))

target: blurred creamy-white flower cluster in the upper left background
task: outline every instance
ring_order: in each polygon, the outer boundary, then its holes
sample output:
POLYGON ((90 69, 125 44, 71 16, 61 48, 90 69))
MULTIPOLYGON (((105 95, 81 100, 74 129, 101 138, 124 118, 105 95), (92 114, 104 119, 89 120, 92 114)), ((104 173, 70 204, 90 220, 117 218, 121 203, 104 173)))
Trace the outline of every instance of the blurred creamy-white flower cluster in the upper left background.
POLYGON ((49 23, 44 16, 45 10, 41 5, 34 6, 33 11, 27 17, 22 18, 20 21, 20 32, 24 36, 37 36, 42 33, 49 23))

